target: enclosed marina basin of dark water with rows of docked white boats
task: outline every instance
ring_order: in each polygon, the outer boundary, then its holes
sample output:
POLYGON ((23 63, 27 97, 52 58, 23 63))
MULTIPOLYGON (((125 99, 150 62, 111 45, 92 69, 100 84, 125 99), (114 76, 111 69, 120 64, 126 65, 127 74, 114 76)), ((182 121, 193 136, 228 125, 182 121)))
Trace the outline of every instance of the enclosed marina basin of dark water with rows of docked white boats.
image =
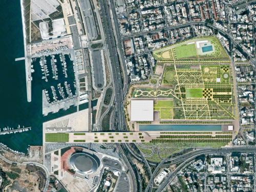
POLYGON ((32 58, 34 78, 42 80, 42 88, 49 104, 76 96, 73 61, 69 54, 53 54, 32 58))

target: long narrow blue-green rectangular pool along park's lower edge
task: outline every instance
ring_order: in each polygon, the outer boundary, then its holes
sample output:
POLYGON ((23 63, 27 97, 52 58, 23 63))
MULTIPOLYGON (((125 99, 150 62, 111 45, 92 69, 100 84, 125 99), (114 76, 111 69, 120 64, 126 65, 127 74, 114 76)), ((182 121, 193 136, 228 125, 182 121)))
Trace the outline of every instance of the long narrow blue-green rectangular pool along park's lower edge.
POLYGON ((140 131, 221 131, 221 125, 139 125, 140 131))

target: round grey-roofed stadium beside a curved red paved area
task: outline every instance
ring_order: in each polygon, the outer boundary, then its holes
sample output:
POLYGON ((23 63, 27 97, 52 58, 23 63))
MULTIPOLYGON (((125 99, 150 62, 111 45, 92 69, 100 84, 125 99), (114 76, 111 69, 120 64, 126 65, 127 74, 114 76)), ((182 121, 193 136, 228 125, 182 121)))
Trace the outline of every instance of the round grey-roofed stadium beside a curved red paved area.
POLYGON ((87 152, 75 152, 69 159, 70 166, 75 172, 88 175, 96 172, 100 165, 99 158, 87 152))

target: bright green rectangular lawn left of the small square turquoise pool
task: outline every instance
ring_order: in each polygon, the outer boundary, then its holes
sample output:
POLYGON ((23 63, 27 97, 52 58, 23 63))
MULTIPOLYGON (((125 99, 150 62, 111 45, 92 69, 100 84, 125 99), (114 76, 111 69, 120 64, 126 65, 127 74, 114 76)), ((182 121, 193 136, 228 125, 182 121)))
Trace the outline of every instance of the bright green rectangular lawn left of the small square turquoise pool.
POLYGON ((195 44, 182 45, 175 48, 175 55, 177 59, 197 57, 197 50, 195 44))

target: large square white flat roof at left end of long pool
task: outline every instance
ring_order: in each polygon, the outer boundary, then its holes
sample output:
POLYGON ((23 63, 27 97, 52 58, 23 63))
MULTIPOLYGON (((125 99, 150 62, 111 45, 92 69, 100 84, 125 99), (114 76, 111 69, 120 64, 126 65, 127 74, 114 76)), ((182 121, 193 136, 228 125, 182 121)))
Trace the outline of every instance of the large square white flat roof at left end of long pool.
POLYGON ((154 101, 131 100, 131 121, 154 121, 154 101))

